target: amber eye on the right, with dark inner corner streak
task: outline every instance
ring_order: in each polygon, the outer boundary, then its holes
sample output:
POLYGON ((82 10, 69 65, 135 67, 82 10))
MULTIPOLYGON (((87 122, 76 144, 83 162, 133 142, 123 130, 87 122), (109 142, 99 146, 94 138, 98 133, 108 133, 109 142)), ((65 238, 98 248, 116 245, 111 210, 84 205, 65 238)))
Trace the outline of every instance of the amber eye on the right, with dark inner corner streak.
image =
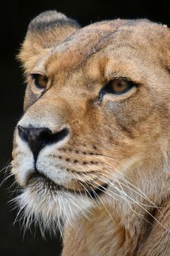
POLYGON ((125 94, 132 87, 136 86, 132 81, 125 79, 110 80, 103 89, 101 89, 99 98, 101 99, 104 94, 125 94))

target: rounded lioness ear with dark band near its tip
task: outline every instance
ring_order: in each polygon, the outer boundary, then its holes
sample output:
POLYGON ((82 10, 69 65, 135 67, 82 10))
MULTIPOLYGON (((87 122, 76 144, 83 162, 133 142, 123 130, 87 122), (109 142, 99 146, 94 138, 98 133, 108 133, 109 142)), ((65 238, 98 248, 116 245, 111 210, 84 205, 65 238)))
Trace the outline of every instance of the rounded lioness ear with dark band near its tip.
POLYGON ((39 58, 80 29, 77 21, 60 12, 47 11, 36 16, 28 26, 18 59, 25 73, 31 72, 39 58))

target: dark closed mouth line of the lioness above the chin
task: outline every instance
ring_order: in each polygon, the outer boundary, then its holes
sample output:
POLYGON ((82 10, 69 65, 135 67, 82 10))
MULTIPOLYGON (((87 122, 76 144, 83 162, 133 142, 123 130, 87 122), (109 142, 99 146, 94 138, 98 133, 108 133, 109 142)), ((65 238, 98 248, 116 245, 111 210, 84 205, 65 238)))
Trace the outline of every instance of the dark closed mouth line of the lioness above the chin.
POLYGON ((43 173, 39 173, 38 170, 34 170, 34 173, 30 173, 27 177, 27 183, 26 186, 29 185, 34 185, 36 182, 42 182, 44 186, 49 189, 49 191, 53 192, 59 192, 59 191, 65 191, 65 192, 70 192, 73 193, 74 195, 86 195, 91 199, 96 199, 99 195, 103 194, 105 190, 107 189, 108 185, 107 184, 102 184, 101 186, 98 187, 89 187, 87 189, 82 189, 81 192, 76 191, 75 189, 69 189, 66 187, 63 187, 61 185, 55 184, 54 181, 52 181, 50 178, 45 176, 43 173))

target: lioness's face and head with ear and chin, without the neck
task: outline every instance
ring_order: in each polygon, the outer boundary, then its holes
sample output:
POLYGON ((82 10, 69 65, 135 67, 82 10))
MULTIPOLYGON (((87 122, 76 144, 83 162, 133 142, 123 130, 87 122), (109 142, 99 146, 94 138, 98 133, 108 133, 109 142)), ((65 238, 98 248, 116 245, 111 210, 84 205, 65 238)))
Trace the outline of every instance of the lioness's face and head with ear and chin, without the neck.
POLYGON ((45 12, 31 22, 20 51, 28 86, 12 152, 28 217, 55 223, 88 214, 101 200, 113 205, 124 176, 147 194, 168 145, 168 37, 169 29, 147 20, 79 29, 45 12))

